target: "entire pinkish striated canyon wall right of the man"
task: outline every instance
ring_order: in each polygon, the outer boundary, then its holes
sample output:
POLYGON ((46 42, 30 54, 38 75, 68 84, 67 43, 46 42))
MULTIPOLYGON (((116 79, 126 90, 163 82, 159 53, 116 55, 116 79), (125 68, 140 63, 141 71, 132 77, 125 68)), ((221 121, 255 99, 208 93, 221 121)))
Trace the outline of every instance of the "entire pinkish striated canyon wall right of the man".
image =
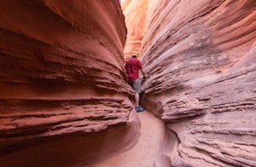
POLYGON ((150 1, 143 104, 166 122, 156 166, 256 166, 256 2, 150 1))

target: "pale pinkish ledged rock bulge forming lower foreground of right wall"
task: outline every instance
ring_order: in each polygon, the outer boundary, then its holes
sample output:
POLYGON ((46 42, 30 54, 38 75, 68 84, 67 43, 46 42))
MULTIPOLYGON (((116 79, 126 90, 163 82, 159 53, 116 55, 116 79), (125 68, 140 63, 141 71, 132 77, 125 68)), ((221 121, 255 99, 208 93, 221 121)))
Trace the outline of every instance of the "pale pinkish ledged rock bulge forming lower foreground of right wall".
POLYGON ((256 43, 222 78, 165 105, 166 121, 203 114, 184 124, 166 125, 180 142, 171 154, 174 165, 256 165, 255 51, 256 43))

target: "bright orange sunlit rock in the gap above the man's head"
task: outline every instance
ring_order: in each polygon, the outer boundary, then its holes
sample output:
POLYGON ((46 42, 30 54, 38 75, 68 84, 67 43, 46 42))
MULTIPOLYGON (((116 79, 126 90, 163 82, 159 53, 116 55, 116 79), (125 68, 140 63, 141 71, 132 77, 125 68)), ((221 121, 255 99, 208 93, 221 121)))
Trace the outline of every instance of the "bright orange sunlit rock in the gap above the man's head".
POLYGON ((132 51, 138 51, 141 47, 148 2, 148 0, 122 1, 122 9, 125 14, 125 24, 127 27, 127 40, 124 49, 125 60, 131 57, 132 51))

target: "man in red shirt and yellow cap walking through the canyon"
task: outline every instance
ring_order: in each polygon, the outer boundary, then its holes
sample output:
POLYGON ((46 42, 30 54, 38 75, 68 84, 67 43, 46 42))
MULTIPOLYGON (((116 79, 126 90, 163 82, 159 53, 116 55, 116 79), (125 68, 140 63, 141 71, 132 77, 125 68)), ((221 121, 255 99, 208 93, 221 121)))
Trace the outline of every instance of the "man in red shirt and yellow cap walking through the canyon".
POLYGON ((145 72, 143 71, 143 66, 140 60, 137 59, 137 51, 133 51, 131 58, 125 63, 125 70, 128 78, 128 82, 131 87, 135 90, 135 110, 137 112, 143 112, 143 107, 139 105, 140 93, 142 93, 142 83, 139 78, 139 71, 143 73, 143 78, 145 78, 145 72))

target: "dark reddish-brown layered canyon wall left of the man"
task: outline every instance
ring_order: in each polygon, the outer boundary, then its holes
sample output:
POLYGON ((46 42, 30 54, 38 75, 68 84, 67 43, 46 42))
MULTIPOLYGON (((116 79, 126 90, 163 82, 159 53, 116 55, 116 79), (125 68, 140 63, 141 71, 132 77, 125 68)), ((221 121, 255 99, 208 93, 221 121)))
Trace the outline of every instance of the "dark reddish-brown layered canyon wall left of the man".
POLYGON ((3 0, 0 34, 0 166, 81 166, 134 146, 118 0, 3 0))

